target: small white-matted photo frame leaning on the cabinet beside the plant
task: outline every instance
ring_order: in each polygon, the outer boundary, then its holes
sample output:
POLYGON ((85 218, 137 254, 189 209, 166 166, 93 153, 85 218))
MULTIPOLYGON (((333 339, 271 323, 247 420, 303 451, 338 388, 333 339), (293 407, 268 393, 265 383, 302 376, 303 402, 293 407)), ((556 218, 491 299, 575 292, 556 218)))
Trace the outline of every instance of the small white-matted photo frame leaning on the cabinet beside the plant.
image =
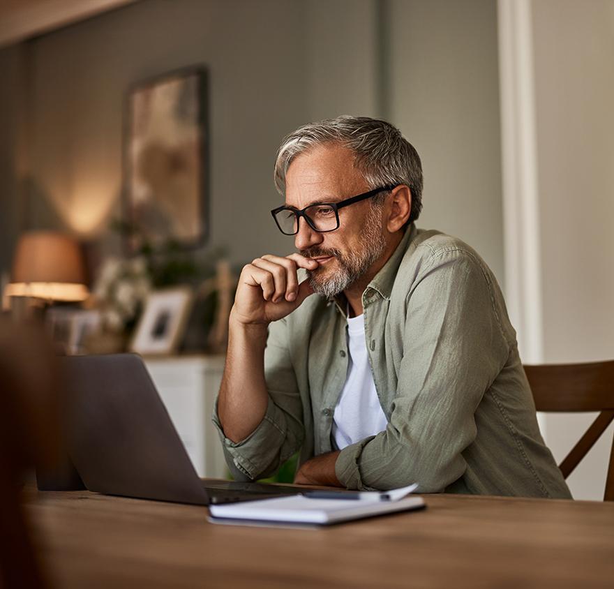
POLYGON ((192 290, 187 287, 151 292, 130 342, 130 350, 144 356, 177 352, 192 300, 192 290))

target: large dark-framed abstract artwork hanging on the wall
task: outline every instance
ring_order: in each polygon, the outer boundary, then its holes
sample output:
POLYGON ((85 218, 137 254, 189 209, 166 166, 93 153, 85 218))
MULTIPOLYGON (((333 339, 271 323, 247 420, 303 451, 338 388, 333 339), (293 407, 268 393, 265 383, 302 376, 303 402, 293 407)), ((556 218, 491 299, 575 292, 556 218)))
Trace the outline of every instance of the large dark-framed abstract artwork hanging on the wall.
POLYGON ((207 72, 135 84, 126 104, 124 228, 129 253, 195 248, 208 233, 207 72))

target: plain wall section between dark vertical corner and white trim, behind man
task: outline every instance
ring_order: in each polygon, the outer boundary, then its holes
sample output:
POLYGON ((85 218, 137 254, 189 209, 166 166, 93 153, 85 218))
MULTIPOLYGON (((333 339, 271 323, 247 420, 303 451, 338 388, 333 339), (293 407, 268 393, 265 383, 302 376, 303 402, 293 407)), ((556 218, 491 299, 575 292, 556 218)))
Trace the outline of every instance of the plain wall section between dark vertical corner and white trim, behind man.
POLYGON ((425 228, 477 249, 503 283, 494 1, 392 0, 389 117, 424 167, 425 228))

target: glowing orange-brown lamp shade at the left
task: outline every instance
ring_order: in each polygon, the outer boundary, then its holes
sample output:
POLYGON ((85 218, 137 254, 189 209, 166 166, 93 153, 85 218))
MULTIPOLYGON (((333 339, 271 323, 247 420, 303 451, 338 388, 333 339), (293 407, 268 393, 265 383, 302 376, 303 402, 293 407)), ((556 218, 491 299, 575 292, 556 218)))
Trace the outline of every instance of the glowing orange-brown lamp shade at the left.
POLYGON ((20 237, 8 295, 82 301, 88 296, 84 282, 83 258, 76 241, 51 231, 20 237))

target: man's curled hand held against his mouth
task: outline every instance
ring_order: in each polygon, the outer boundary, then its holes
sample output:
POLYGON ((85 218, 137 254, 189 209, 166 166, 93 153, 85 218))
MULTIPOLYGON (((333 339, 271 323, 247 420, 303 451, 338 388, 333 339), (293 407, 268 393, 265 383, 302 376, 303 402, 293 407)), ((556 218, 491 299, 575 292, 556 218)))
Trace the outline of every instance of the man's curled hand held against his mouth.
POLYGON ((244 266, 239 277, 231 317, 244 325, 268 325, 289 315, 313 290, 299 285, 297 270, 315 270, 318 263, 293 253, 286 258, 263 255, 244 266))

